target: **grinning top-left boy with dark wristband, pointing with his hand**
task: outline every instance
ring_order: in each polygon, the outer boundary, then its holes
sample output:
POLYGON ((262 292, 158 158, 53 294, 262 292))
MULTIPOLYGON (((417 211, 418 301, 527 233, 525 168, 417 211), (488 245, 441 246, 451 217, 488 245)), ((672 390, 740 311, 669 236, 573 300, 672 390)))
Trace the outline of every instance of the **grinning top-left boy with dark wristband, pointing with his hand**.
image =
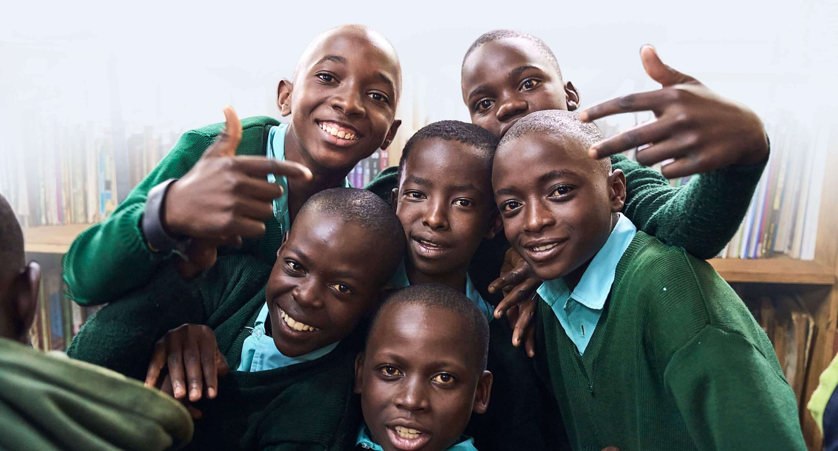
POLYGON ((401 65, 380 33, 346 25, 320 34, 277 87, 290 123, 256 116, 240 125, 228 108, 225 127, 184 133, 109 218, 75 239, 64 259, 68 295, 113 300, 175 254, 193 276, 225 245, 273 264, 308 197, 349 186, 355 164, 390 145, 400 95, 401 65))

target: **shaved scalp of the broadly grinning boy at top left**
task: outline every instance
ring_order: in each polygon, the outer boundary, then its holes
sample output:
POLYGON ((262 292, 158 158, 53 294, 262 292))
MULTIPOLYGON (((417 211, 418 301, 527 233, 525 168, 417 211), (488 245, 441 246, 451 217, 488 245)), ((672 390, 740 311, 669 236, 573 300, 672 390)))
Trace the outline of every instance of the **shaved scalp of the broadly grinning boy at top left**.
POLYGON ((396 54, 396 49, 393 44, 384 37, 383 34, 365 25, 347 24, 339 27, 330 28, 323 33, 318 34, 313 39, 311 44, 303 52, 303 56, 297 61, 297 67, 294 69, 294 75, 291 79, 292 83, 297 79, 297 75, 318 63, 318 50, 322 49, 327 44, 334 42, 337 39, 348 39, 353 41, 355 45, 365 45, 375 49, 376 53, 390 59, 395 67, 396 79, 393 80, 396 85, 396 101, 401 98, 401 62, 399 55, 396 54))

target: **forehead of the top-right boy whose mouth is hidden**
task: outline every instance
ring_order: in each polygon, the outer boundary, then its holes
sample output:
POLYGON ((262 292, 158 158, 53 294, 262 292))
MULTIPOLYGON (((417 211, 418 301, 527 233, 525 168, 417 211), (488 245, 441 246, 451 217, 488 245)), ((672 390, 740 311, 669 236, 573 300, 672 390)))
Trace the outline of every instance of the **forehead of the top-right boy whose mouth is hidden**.
POLYGON ((463 90, 485 82, 490 75, 506 76, 521 66, 553 73, 555 65, 538 45, 526 38, 500 38, 474 49, 463 63, 463 90))

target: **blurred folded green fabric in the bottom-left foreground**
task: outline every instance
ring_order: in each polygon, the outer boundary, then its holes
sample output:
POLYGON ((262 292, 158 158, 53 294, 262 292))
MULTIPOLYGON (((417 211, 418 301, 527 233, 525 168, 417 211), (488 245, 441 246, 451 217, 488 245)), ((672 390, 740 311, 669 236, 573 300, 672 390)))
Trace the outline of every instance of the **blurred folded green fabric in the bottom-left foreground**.
POLYGON ((0 338, 0 449, 162 451, 192 433, 192 418, 172 397, 0 338))

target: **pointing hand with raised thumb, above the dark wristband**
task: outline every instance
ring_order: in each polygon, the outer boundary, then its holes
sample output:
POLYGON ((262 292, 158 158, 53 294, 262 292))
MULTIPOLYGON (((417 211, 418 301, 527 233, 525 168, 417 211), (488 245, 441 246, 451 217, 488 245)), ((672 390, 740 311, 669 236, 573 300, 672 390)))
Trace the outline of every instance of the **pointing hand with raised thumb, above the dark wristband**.
POLYGON ((282 187, 268 182, 268 174, 312 178, 307 167, 292 161, 235 156, 241 121, 230 106, 224 115, 225 130, 166 195, 168 232, 193 238, 187 249, 189 261, 178 268, 186 276, 215 264, 220 245, 237 245, 241 237, 265 233, 264 221, 273 216, 273 199, 282 196, 282 187))

